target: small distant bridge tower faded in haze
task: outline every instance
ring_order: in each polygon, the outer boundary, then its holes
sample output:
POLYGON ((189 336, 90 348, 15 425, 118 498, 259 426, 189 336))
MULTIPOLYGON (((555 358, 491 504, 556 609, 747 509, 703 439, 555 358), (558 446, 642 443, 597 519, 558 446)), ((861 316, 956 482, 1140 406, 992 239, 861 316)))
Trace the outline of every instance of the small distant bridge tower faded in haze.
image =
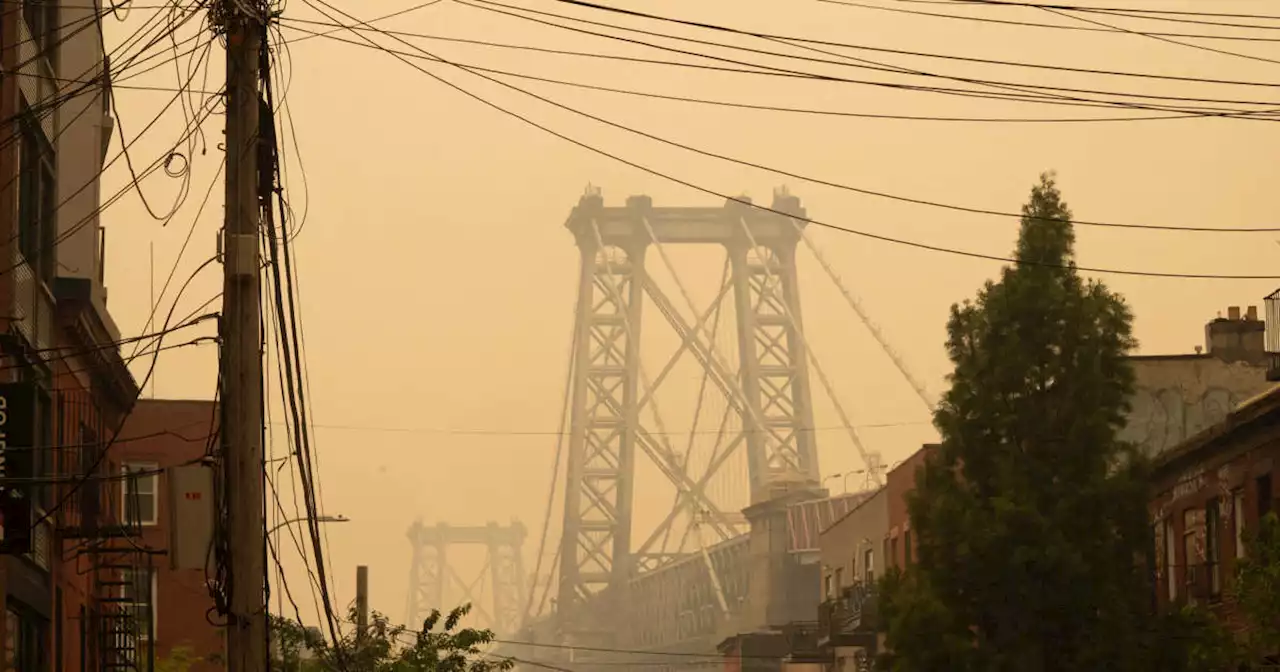
POLYGON ((484 620, 497 634, 515 634, 521 626, 525 608, 525 564, 521 556, 525 535, 525 526, 516 521, 507 526, 490 522, 471 527, 456 527, 447 522, 435 526, 415 522, 408 529, 413 563, 410 567, 404 623, 417 627, 431 609, 447 613, 462 603, 471 603, 472 614, 484 620), (449 564, 448 549, 457 545, 483 545, 488 552, 485 564, 471 581, 465 580, 449 564), (493 594, 488 605, 476 600, 476 588, 486 573, 493 594), (448 584, 462 594, 456 604, 444 602, 448 584))

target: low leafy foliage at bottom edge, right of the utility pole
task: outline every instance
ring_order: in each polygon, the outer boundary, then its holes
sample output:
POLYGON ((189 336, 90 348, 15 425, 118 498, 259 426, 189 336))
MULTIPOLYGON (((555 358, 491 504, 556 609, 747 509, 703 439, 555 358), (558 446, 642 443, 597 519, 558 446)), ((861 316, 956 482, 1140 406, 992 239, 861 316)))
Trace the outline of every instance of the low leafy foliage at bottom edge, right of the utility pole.
MULTIPOLYGON (((512 660, 490 658, 484 648, 493 643, 489 630, 461 627, 471 611, 465 604, 442 614, 433 611, 421 630, 393 625, 374 612, 364 636, 347 627, 342 640, 329 644, 301 623, 273 617, 273 662, 285 672, 506 672, 512 660)), ((348 625, 356 612, 348 614, 348 625)))

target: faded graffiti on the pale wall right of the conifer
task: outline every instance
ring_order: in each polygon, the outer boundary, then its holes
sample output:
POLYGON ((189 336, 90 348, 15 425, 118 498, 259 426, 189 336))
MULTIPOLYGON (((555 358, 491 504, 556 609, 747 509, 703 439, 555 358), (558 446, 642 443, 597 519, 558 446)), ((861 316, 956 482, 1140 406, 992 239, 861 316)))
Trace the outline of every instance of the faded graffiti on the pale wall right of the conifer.
POLYGON ((1147 456, 1156 456, 1225 420, 1243 401, 1225 388, 1208 388, 1198 398, 1189 397, 1179 388, 1138 388, 1120 439, 1138 444, 1147 456))

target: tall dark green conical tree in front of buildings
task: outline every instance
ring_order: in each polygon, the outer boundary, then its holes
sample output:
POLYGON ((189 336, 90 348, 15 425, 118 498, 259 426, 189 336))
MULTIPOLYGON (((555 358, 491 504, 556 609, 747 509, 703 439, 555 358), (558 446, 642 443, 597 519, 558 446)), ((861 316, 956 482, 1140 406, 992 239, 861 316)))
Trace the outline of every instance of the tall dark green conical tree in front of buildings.
POLYGON ((1042 175, 1018 264, 951 308, 942 440, 908 498, 918 558, 881 590, 887 669, 1155 671, 1170 652, 1144 461, 1116 438, 1132 314, 1078 274, 1070 220, 1042 175))

